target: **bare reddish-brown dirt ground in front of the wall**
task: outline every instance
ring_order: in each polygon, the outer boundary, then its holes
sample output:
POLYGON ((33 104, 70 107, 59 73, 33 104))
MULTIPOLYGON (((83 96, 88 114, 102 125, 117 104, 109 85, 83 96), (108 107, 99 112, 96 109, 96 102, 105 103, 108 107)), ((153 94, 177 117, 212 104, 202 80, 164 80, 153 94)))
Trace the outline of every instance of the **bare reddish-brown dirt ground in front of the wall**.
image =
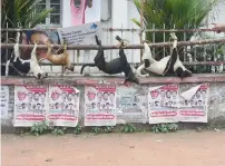
POLYGON ((2 166, 225 166, 225 130, 1 137, 2 166))

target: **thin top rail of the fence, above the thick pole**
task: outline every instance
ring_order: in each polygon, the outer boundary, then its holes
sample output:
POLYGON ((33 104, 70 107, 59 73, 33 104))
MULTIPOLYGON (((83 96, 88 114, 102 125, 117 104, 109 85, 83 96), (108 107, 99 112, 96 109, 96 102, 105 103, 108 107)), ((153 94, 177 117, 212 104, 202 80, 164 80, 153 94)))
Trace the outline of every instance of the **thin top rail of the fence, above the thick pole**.
MULTIPOLYGON (((37 30, 37 31, 57 31, 58 28, 37 28, 37 29, 29 29, 29 28, 2 28, 1 31, 27 31, 27 30, 37 30)), ((135 29, 135 28, 102 28, 104 31, 143 31, 143 32, 195 32, 195 31, 215 31, 213 29, 135 29)))

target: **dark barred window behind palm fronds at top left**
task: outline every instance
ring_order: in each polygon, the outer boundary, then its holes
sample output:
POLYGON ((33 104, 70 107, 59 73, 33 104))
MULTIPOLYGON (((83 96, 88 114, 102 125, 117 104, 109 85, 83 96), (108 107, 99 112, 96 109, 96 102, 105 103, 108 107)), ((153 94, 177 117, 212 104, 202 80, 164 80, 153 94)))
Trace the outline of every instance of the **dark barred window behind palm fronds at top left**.
POLYGON ((50 9, 53 8, 53 11, 50 13, 46 20, 41 23, 43 25, 61 25, 61 0, 41 0, 38 3, 40 9, 50 9))

